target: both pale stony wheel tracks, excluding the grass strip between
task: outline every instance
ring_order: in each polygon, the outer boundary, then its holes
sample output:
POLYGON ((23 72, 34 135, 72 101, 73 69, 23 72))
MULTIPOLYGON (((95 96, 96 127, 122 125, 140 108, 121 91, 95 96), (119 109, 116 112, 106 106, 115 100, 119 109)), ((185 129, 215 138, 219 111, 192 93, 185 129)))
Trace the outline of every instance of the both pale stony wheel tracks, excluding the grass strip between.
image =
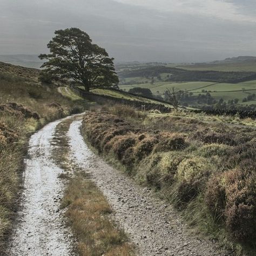
MULTIPOLYGON (((72 235, 59 211, 64 184, 58 176, 63 170, 51 158, 59 122, 46 125, 30 139, 23 203, 7 255, 73 255, 72 235)), ((191 237, 170 205, 96 156, 84 143, 81 123, 72 122, 68 132, 71 161, 90 173, 114 210, 113 220, 129 234, 139 255, 228 255, 210 241, 191 237)))

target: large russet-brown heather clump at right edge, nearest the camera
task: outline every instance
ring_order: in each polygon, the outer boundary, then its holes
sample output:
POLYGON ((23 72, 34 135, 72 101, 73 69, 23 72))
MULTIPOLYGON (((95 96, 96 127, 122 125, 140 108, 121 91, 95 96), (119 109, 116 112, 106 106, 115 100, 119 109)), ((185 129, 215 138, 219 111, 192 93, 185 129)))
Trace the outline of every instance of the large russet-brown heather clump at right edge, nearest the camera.
POLYGON ((205 201, 214 219, 224 223, 233 238, 255 241, 256 176, 251 171, 234 169, 213 177, 205 201))

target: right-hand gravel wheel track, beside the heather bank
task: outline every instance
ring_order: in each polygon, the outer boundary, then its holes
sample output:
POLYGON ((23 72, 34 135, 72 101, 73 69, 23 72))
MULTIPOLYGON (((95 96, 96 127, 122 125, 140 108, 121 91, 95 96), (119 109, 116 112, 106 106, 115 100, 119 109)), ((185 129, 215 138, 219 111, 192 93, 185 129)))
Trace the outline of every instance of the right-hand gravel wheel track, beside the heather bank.
POLYGON ((94 154, 80 134, 81 120, 68 136, 72 160, 91 174, 114 210, 114 220, 138 246, 139 255, 228 255, 209 241, 191 237, 170 205, 166 205, 94 154))

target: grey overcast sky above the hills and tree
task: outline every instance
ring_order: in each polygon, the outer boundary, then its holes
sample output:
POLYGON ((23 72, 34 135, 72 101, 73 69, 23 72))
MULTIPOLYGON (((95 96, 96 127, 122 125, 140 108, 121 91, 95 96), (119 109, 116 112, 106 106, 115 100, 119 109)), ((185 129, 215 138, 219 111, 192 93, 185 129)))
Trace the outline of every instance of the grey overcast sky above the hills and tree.
POLYGON ((77 27, 116 61, 256 56, 255 0, 0 0, 0 54, 38 54, 77 27))

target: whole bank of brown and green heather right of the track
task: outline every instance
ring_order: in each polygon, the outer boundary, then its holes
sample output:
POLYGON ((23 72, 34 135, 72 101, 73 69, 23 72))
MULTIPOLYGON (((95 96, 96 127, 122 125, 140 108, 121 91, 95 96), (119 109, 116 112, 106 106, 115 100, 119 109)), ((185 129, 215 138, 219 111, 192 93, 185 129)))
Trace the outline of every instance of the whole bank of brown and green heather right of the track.
POLYGON ((106 110, 83 120, 83 134, 100 154, 153 187, 196 232, 237 255, 255 254, 255 130, 127 106, 106 110))

